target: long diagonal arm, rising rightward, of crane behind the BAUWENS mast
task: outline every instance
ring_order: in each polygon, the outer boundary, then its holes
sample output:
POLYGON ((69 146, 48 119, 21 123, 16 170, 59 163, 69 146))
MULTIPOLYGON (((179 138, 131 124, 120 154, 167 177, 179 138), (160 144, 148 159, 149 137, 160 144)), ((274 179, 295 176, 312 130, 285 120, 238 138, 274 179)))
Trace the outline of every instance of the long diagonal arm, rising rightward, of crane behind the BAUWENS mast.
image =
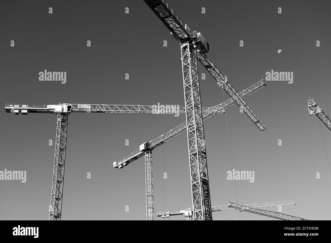
MULTIPOLYGON (((243 90, 242 92, 239 93, 239 95, 242 98, 245 98, 247 96, 249 96, 250 94, 256 92, 257 90, 259 90, 260 88, 266 86, 266 83, 264 80, 260 80, 259 82, 257 82, 256 84, 252 85, 251 87, 243 90)), ((231 98, 228 99, 227 101, 216 105, 216 106, 212 106, 211 108, 213 109, 225 109, 230 107, 231 105, 235 104, 235 101, 231 98)), ((209 113, 209 114, 203 114, 203 120, 206 120, 210 117, 212 117, 214 115, 214 113, 209 113)), ((170 139, 182 134, 183 132, 186 131, 186 122, 183 122, 182 124, 180 124, 179 126, 171 129, 170 131, 168 131, 167 133, 161 135, 158 138, 155 138, 151 141, 148 142, 149 144, 149 149, 153 150, 157 147, 159 147, 160 145, 166 143, 167 141, 169 141, 170 139)), ((141 151, 140 148, 137 149, 136 151, 134 151, 131 155, 125 157, 124 159, 118 161, 118 162, 114 162, 114 167, 116 168, 123 168, 123 166, 133 162, 134 160, 140 158, 141 156, 144 155, 144 151, 141 151)))

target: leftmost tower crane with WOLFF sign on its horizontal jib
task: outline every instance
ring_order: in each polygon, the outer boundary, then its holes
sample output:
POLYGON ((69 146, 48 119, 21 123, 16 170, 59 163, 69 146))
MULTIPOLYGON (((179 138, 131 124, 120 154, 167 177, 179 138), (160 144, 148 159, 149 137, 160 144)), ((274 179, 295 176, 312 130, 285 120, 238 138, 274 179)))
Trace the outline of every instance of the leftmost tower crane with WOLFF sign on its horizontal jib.
MULTIPOLYGON (((174 112, 185 113, 182 107, 168 107, 167 114, 174 112)), ((68 115, 71 112, 85 113, 145 113, 145 114, 162 114, 159 108, 155 106, 145 105, 92 105, 92 104, 56 104, 56 105, 36 105, 36 104, 14 104, 6 103, 5 110, 7 113, 15 115, 27 115, 28 113, 48 113, 56 114, 56 143, 54 156, 54 169, 52 180, 52 195, 51 195, 51 210, 49 220, 61 220, 62 197, 63 197, 63 182, 64 168, 67 147, 67 131, 68 131, 68 115)), ((202 108, 203 114, 224 113, 222 107, 207 107, 202 108)))

